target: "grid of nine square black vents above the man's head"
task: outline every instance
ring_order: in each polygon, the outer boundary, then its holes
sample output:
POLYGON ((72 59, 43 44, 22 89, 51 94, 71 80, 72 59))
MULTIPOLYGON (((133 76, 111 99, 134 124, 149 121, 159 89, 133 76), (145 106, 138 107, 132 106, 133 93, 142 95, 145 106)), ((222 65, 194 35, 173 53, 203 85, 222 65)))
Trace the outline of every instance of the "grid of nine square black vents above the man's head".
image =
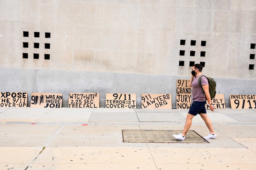
MULTIPOLYGON (((196 40, 191 40, 190 41, 190 46, 196 46, 196 40)), ((186 40, 180 40, 180 45, 185 46, 186 45, 186 40)), ((206 41, 201 41, 201 46, 206 46, 206 41)), ((196 51, 190 51, 189 55, 190 56, 195 56, 196 51)), ((185 50, 180 50, 180 56, 185 56, 185 50)), ((200 57, 205 57, 206 56, 206 51, 200 51, 200 57)), ((195 64, 195 61, 189 61, 189 67, 193 67, 195 64)), ((200 64, 205 67, 205 62, 200 62, 200 64)), ((179 66, 184 66, 185 61, 179 61, 179 66)))

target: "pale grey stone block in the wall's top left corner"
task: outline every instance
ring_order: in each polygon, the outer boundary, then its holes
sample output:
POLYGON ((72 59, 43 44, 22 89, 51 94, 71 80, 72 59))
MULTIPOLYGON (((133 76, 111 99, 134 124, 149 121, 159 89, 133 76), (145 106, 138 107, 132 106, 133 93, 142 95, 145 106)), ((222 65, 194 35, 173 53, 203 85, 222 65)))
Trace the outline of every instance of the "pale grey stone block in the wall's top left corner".
POLYGON ((0 1, 0 20, 1 21, 18 21, 18 0, 1 0, 0 1))

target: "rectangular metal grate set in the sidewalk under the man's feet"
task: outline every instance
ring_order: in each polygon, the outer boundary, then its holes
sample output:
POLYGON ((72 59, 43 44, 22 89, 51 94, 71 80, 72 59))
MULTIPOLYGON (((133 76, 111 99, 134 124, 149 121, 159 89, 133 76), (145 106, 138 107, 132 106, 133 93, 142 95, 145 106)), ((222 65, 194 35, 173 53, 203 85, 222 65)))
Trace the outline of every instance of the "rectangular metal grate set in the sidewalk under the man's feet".
POLYGON ((122 130, 123 142, 134 143, 209 143, 195 131, 189 130, 185 140, 177 140, 173 134, 178 135, 182 130, 122 130))

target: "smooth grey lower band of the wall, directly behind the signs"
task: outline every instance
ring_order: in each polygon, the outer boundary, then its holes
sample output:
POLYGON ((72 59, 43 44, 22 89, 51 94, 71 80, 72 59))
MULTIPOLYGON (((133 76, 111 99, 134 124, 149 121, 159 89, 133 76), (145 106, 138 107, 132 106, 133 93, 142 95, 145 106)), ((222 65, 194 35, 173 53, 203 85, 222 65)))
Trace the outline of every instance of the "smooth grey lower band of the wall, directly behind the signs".
MULTIPOLYGON (((39 69, 0 68, 0 89, 3 92, 62 93, 62 107, 68 107, 69 93, 99 93, 100 107, 105 107, 106 93, 136 94, 137 108, 141 108, 141 94, 171 94, 172 108, 176 108, 176 80, 182 76, 159 76, 123 73, 56 71, 39 69), (149 83, 150 82, 150 83, 149 83)), ((224 94, 225 105, 230 107, 230 94, 252 94, 256 80, 215 78, 217 93, 224 94), (234 88, 239 85, 243 88, 234 88)), ((255 94, 255 93, 254 93, 255 94)))

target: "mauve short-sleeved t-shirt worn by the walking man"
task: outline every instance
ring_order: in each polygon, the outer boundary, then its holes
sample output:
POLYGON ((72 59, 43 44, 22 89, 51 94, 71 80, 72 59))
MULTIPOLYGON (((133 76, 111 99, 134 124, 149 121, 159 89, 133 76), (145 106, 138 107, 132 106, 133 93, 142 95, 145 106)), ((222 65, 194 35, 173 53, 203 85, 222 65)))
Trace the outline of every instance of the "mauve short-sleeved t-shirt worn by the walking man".
MULTIPOLYGON (((201 76, 201 75, 200 75, 201 76)), ((192 81, 192 98, 193 101, 206 101, 205 95, 203 94, 202 88, 199 86, 198 79, 200 76, 197 76, 192 81)), ((201 78, 201 84, 208 84, 208 80, 206 77, 201 78)))

